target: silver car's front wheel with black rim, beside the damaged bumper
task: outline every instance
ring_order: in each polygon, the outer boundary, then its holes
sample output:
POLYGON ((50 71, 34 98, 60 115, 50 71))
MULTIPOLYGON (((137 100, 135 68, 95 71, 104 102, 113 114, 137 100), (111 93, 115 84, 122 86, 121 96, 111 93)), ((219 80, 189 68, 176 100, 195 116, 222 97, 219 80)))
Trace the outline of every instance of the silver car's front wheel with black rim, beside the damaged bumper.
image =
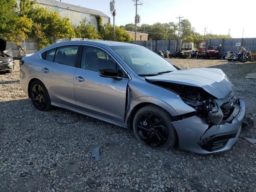
POLYGON ((170 150, 176 144, 177 133, 172 117, 158 106, 148 105, 138 110, 132 126, 136 139, 145 146, 170 150))

